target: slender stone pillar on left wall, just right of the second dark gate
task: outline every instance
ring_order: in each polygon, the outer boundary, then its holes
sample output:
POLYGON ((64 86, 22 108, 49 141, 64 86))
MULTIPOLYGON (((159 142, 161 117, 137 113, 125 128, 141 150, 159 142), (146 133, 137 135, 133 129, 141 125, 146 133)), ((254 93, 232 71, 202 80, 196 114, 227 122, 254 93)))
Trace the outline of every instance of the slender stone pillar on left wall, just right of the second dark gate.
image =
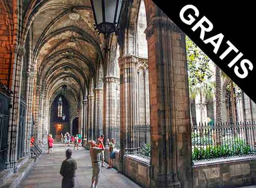
POLYGON ((34 73, 26 73, 26 126, 25 126, 25 155, 30 156, 30 138, 31 138, 31 124, 32 124, 32 107, 33 107, 33 86, 34 86, 34 73))

